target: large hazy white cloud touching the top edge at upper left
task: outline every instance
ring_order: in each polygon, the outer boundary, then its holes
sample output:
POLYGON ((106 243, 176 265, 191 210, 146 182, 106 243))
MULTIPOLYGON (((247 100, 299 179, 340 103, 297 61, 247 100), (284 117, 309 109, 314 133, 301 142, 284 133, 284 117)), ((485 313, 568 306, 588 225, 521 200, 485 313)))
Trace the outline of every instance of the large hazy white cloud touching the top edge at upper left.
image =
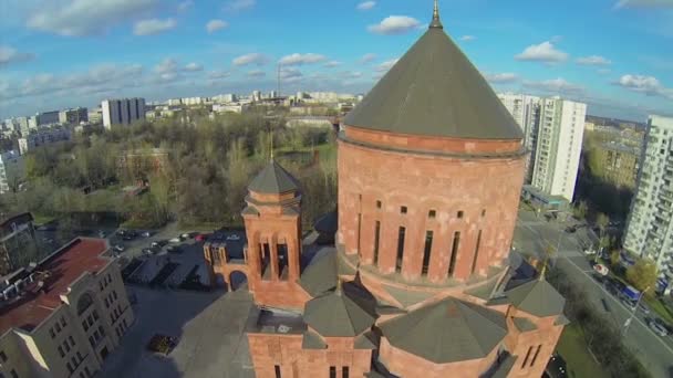
POLYGON ((114 25, 156 8, 159 0, 71 0, 49 1, 28 18, 33 30, 66 36, 102 34, 114 25))

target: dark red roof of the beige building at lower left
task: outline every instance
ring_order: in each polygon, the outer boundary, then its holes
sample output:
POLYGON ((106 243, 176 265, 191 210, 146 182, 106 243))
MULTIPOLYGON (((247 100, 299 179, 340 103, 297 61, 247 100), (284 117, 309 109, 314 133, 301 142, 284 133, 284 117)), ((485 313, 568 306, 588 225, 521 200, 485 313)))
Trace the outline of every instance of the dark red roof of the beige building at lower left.
POLYGON ((61 305, 60 295, 84 272, 97 272, 110 260, 101 256, 105 240, 79 238, 42 260, 32 271, 33 281, 21 293, 0 303, 0 335, 10 328, 33 330, 61 305), (41 282, 43 284, 41 284, 41 282))

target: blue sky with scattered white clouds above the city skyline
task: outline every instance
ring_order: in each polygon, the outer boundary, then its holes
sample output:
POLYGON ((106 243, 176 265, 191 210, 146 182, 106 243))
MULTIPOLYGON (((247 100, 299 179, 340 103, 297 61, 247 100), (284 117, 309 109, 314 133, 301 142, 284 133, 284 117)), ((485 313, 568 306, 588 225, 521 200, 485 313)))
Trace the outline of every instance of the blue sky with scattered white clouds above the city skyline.
MULTIPOLYGON (((673 115, 673 0, 441 0, 499 91, 589 113, 673 115)), ((431 0, 3 0, 0 118, 116 96, 365 93, 424 32, 431 0)))

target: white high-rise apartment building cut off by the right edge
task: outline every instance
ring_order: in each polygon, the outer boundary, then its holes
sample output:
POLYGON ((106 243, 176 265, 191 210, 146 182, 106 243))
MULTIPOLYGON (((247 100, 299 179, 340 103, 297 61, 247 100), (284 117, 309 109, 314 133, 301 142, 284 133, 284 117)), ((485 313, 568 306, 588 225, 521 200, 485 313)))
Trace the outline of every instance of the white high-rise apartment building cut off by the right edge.
POLYGON ((624 249, 673 282, 673 118, 650 116, 624 249))

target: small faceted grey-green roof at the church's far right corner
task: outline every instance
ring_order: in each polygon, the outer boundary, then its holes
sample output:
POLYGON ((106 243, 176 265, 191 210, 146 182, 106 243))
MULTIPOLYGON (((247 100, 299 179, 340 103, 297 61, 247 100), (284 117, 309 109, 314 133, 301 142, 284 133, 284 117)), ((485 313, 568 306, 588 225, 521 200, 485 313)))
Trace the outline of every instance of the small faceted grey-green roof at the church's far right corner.
POLYGON ((528 314, 547 317, 563 314, 566 300, 545 280, 534 280, 505 293, 509 302, 528 314))

